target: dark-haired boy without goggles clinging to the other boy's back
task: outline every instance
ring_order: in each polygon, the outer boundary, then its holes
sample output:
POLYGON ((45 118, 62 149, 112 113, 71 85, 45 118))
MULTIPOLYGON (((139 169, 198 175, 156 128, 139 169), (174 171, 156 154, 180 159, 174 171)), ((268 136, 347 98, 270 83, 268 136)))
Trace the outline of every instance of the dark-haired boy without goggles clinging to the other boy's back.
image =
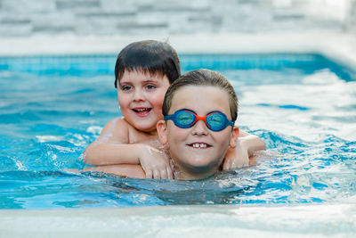
MULTIPOLYGON (((85 149, 85 162, 97 166, 92 170, 110 172, 108 169, 116 165, 127 169, 141 165, 144 177, 172 178, 170 162, 158 142, 156 124, 163 119, 166 90, 180 75, 178 55, 166 43, 134 42, 118 54, 115 86, 124 117, 109 121, 99 138, 85 149)), ((224 169, 248 165, 249 154, 264 149, 264 143, 245 133, 238 147, 239 150, 227 152, 224 169)))

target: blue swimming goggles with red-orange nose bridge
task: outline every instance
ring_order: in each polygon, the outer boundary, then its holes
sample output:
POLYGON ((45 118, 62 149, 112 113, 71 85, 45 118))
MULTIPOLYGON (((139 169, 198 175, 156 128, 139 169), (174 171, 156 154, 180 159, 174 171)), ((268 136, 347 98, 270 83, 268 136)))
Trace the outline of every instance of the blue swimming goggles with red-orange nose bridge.
POLYGON ((182 109, 175 111, 172 115, 165 116, 164 119, 172 119, 174 125, 181 128, 193 127, 197 121, 201 119, 206 123, 206 127, 212 131, 221 131, 235 124, 230 119, 227 119, 226 115, 220 111, 212 111, 207 113, 204 117, 199 117, 194 111, 182 109))

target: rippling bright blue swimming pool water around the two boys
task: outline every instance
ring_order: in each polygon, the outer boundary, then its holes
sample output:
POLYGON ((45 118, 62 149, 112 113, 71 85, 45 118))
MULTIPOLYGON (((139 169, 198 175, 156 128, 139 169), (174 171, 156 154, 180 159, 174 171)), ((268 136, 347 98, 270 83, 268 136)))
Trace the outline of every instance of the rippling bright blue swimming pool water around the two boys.
POLYGON ((319 54, 180 55, 219 70, 262 160, 200 181, 65 172, 120 116, 113 55, 0 58, 0 209, 356 201, 355 72, 319 54))

